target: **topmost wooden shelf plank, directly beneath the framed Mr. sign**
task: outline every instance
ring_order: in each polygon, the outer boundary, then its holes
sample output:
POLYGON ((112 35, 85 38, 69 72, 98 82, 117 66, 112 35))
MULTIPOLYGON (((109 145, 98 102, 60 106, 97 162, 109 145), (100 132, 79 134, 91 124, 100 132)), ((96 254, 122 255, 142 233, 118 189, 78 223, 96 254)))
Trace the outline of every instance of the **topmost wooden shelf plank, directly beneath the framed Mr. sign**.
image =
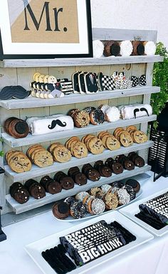
POLYGON ((43 68, 43 67, 70 67, 75 65, 119 65, 127 63, 154 63, 162 62, 162 56, 110 56, 102 58, 56 58, 56 59, 13 59, 1 60, 2 68, 43 68))

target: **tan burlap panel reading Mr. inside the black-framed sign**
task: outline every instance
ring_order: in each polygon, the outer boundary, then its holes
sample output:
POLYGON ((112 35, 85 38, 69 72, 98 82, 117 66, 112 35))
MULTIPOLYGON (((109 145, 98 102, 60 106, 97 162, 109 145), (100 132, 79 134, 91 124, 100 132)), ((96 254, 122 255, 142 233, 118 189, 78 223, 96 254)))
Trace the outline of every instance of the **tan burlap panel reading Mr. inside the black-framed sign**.
POLYGON ((13 43, 79 43, 77 0, 8 0, 13 43))

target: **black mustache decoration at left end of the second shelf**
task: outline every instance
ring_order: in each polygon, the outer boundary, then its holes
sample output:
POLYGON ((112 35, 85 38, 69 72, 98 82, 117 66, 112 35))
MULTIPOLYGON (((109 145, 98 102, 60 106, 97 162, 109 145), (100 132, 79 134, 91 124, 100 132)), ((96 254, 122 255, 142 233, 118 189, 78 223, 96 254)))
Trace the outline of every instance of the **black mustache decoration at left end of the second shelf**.
POLYGON ((21 85, 9 85, 0 91, 0 100, 24 99, 31 94, 31 91, 25 90, 21 85))

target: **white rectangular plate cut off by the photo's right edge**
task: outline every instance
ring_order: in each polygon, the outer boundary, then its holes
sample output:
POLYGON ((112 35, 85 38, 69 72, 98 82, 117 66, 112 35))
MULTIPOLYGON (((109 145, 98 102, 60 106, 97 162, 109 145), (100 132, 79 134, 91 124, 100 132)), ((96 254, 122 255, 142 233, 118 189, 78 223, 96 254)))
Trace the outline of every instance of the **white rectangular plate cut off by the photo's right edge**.
POLYGON ((149 201, 159 195, 164 194, 164 192, 166 192, 168 190, 168 188, 166 189, 162 189, 161 191, 158 191, 150 196, 145 197, 144 199, 140 199, 138 201, 135 201, 134 204, 130 204, 128 206, 125 206, 124 208, 120 209, 120 213, 124 214, 125 216, 127 216, 128 218, 130 218, 132 221, 135 221, 135 223, 138 223, 140 226, 146 228, 148 231, 154 233, 154 235, 156 236, 162 236, 165 233, 168 232, 168 226, 165 226, 162 229, 155 229, 152 226, 149 226, 147 223, 145 223, 144 221, 141 221, 139 218, 135 217, 135 214, 137 214, 138 212, 140 212, 139 209, 139 205, 145 203, 146 201, 149 201))

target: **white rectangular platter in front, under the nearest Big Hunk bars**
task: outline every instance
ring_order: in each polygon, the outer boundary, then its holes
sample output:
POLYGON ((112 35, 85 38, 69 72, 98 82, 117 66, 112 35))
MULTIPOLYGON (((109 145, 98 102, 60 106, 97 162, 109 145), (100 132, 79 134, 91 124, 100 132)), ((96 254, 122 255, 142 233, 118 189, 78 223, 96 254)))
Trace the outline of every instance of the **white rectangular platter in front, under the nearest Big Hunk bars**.
POLYGON ((126 218, 125 216, 120 214, 120 212, 112 211, 107 214, 104 214, 103 216, 98 216, 92 220, 82 222, 64 231, 58 232, 56 234, 43 238, 39 241, 31 243, 28 246, 26 246, 25 248, 26 252, 28 253, 28 255, 31 256, 31 258, 38 265, 38 267, 41 268, 43 273, 56 274, 53 268, 51 268, 51 266, 48 265, 46 260, 43 259, 41 252, 46 251, 46 249, 48 248, 53 248, 54 246, 57 246, 58 243, 60 243, 59 238, 61 236, 65 236, 74 231, 78 231, 79 229, 85 228, 86 226, 90 226, 91 224, 101 220, 105 220, 107 221, 107 223, 110 223, 112 221, 119 222, 122 226, 127 228, 128 231, 134 234, 137 237, 137 239, 133 241, 132 243, 127 244, 126 246, 122 246, 121 248, 118 248, 115 251, 107 253, 106 255, 103 255, 102 257, 83 265, 81 268, 76 268, 75 270, 70 272, 71 274, 81 274, 81 273, 86 273, 88 271, 90 274, 95 273, 93 268, 100 266, 101 264, 107 262, 108 260, 112 260, 117 255, 130 251, 132 248, 137 248, 138 246, 142 245, 142 243, 146 243, 147 241, 150 241, 154 238, 152 234, 145 231, 145 229, 141 228, 140 226, 137 226, 136 223, 133 223, 132 221, 130 221, 129 218, 126 218))

